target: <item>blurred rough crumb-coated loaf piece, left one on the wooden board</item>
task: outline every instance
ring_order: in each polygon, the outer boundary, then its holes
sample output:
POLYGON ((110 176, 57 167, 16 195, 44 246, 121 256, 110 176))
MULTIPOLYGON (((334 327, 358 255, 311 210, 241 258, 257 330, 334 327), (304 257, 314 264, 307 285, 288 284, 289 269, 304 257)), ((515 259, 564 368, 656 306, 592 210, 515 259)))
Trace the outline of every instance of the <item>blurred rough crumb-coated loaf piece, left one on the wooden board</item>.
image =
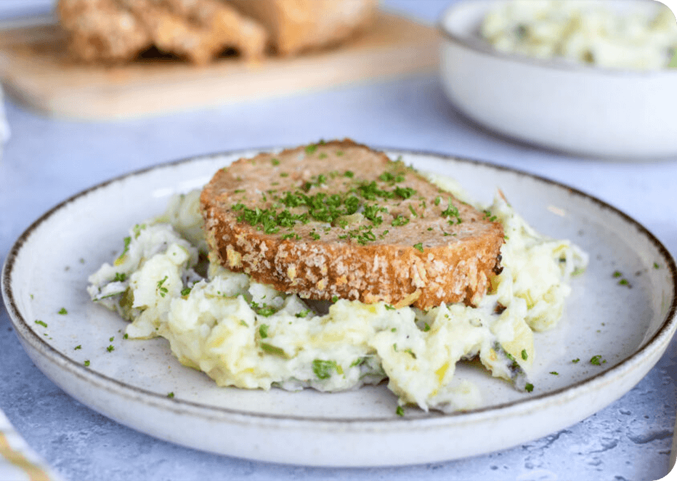
POLYGON ((150 46, 194 64, 228 48, 261 59, 268 44, 262 26, 220 0, 60 0, 59 16, 84 61, 131 60, 150 46))

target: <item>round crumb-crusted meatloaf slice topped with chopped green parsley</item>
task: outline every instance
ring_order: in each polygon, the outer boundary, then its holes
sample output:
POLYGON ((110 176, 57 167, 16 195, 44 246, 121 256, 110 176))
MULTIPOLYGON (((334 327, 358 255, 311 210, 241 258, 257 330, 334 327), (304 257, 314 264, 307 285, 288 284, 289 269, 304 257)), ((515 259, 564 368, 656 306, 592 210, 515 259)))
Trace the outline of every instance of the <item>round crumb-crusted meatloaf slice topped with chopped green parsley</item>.
POLYGON ((348 139, 240 159, 201 206, 221 264, 309 299, 474 305, 503 243, 486 213, 348 139))

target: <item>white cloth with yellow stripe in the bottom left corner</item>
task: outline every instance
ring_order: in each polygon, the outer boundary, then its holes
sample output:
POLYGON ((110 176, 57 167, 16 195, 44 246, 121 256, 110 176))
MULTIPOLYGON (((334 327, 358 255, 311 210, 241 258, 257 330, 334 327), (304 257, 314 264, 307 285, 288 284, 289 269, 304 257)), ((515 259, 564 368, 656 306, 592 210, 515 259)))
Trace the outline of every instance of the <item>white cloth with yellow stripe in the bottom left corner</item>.
POLYGON ((31 450, 2 411, 0 411, 0 480, 63 480, 31 450))

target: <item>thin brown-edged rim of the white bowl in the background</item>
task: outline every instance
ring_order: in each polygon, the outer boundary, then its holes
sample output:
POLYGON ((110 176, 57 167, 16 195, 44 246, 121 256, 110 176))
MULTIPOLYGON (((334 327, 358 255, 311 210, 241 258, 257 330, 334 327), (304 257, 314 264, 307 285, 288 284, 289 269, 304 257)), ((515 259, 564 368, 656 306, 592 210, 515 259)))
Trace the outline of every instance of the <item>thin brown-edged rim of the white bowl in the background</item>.
MULTIPOLYGON (((468 4, 468 1, 471 3, 475 2, 476 0, 465 0, 465 1, 460 1, 455 4, 451 4, 446 8, 446 10, 443 11, 441 16, 439 17, 437 21, 437 30, 445 39, 446 41, 451 41, 454 44, 461 46, 465 49, 471 49, 473 51, 478 52, 479 54, 483 54, 486 56, 491 56, 495 57, 497 59, 503 59, 503 60, 508 60, 508 61, 515 61, 519 62, 521 64, 529 64, 531 66, 536 66, 540 67, 541 69, 548 69, 548 70, 560 70, 560 71, 570 71, 570 72, 576 72, 576 73, 588 73, 591 75, 601 75, 601 76, 611 76, 611 77, 628 77, 628 78, 636 78, 636 77, 658 77, 658 76, 673 76, 677 80, 677 69, 662 69, 662 70, 656 70, 656 71, 634 71, 634 70, 624 70, 624 69, 609 69, 607 67, 602 67, 602 66, 586 66, 586 65, 581 65, 581 64, 574 64, 574 63, 568 63, 564 61, 548 61, 548 60, 540 60, 540 59, 533 59, 528 56, 524 55, 518 55, 518 54, 509 54, 507 52, 502 52, 498 51, 496 49, 491 48, 490 45, 485 44, 481 41, 481 39, 473 39, 473 38, 468 38, 465 35, 459 35, 456 34, 456 32, 451 31, 451 29, 448 28, 446 25, 446 22, 448 21, 448 17, 452 16, 453 14, 456 13, 456 10, 462 9, 466 4, 468 4)), ((501 1, 509 1, 509 0, 485 0, 484 3, 489 4, 491 3, 501 3, 501 1)), ((479 2, 477 2, 479 3, 479 2)), ((663 3, 663 2, 658 2, 658 3, 663 3)))

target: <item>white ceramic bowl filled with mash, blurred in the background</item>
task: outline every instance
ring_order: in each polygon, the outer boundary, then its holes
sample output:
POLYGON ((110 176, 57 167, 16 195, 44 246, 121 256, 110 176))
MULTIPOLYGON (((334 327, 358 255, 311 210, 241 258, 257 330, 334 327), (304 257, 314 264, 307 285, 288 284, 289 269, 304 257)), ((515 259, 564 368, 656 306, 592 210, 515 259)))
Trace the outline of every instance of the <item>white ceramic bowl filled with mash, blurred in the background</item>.
MULTIPOLYGON (((677 156, 677 69, 619 71, 503 54, 478 35, 509 0, 468 0, 443 14, 441 79, 468 118, 503 135, 583 156, 677 156)), ((616 1, 643 9, 656 1, 616 1)))

